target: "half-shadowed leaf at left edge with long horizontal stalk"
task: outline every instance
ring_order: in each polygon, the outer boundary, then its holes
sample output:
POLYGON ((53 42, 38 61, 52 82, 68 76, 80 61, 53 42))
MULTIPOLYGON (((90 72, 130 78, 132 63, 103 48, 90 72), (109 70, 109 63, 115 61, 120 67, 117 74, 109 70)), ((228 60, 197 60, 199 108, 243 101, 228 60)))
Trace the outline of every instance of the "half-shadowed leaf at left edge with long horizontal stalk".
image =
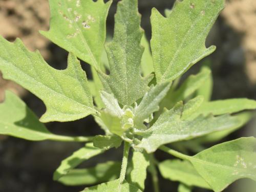
POLYGON ((4 103, 0 104, 0 134, 31 141, 46 139, 57 141, 88 141, 86 137, 68 137, 49 132, 37 116, 15 94, 7 91, 4 103))

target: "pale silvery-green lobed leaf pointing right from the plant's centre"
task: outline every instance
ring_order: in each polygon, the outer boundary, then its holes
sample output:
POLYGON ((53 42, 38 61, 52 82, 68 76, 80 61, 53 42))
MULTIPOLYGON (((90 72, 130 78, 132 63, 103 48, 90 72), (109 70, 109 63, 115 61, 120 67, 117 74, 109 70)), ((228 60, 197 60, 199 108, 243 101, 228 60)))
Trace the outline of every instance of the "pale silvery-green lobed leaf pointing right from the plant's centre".
POLYGON ((182 120, 183 104, 179 102, 172 110, 165 111, 158 120, 144 132, 138 132, 143 139, 136 147, 152 153, 163 144, 188 140, 209 133, 229 129, 238 123, 238 119, 229 115, 218 117, 198 116, 192 120, 182 120))

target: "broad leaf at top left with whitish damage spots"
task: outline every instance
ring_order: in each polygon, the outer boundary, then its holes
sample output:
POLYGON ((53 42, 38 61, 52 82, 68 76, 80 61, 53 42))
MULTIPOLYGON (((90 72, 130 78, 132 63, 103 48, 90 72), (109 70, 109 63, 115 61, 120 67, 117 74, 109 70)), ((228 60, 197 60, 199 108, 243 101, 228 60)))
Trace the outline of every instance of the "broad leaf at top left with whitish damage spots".
POLYGON ((103 0, 50 0, 49 3, 50 30, 40 33, 61 48, 100 69, 106 36, 106 16, 112 1, 104 4, 103 0))

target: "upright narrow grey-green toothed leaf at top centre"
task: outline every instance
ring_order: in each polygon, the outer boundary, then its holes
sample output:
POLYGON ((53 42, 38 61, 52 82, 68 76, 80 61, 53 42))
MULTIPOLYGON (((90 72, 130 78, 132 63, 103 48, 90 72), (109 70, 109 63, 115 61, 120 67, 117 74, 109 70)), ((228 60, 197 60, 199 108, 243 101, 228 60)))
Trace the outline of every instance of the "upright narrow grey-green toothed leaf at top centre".
MULTIPOLYGON (((99 72, 103 86, 122 105, 131 105, 148 90, 151 78, 142 78, 140 62, 143 48, 137 0, 118 2, 113 40, 106 44, 110 75, 99 72)), ((151 77, 151 76, 150 76, 151 77)))

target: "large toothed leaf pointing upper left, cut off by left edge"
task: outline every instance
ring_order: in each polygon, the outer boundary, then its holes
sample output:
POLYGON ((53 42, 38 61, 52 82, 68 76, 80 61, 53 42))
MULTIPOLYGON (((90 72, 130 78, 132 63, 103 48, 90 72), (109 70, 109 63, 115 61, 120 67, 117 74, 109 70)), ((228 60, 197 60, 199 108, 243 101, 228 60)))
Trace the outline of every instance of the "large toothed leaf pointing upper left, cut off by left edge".
POLYGON ((0 37, 0 70, 5 79, 44 101, 47 111, 40 118, 42 122, 73 121, 96 112, 86 73, 73 54, 66 70, 56 70, 39 52, 29 52, 19 39, 11 43, 0 37))

